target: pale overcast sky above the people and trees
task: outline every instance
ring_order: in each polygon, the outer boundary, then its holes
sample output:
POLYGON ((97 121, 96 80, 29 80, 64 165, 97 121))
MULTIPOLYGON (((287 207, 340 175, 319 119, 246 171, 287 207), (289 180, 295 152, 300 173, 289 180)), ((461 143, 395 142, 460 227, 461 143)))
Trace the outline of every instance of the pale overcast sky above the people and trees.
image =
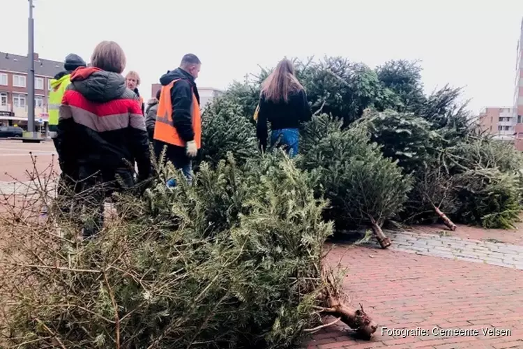
MULTIPOLYGON (((521 0, 34 0, 35 51, 89 61, 101 40, 151 83, 183 54, 202 60, 199 87, 225 88, 282 57, 341 55, 374 67, 421 59, 427 91, 465 87, 470 107, 512 105, 521 0)), ((28 1, 0 0, 0 50, 27 52, 28 1)))

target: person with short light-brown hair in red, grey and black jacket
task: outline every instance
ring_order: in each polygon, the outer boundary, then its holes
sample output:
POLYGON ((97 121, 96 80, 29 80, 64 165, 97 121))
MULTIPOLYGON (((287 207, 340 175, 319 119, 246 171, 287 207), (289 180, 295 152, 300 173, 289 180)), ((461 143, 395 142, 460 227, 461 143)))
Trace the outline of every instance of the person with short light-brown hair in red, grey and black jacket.
POLYGON ((91 66, 71 74, 59 109, 63 170, 77 170, 82 195, 89 195, 80 198, 82 207, 92 209, 83 222, 84 237, 102 227, 105 197, 135 185, 135 161, 138 181, 152 173, 145 118, 121 75, 125 66, 126 56, 117 43, 99 43, 91 66))

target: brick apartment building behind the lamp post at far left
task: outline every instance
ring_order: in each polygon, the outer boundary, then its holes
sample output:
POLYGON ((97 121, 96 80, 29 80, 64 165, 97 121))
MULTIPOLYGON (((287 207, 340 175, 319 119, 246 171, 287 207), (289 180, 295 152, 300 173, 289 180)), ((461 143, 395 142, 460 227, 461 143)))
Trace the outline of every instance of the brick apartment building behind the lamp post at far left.
MULTIPOLYGON (((63 62, 40 59, 33 56, 35 68, 35 124, 43 126, 48 120, 47 101, 51 89, 50 81, 63 70, 63 62)), ((0 124, 25 128, 28 116, 26 56, 0 52, 0 124)))

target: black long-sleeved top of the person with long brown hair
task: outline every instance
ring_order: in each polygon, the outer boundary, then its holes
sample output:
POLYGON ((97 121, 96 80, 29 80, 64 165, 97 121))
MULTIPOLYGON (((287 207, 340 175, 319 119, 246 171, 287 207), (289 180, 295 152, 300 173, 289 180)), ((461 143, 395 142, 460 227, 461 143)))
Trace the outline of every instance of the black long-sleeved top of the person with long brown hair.
POLYGON ((312 117, 307 94, 305 91, 296 91, 289 96, 289 101, 273 103, 261 96, 256 134, 261 147, 266 147, 268 130, 267 121, 271 123, 271 130, 282 128, 298 128, 302 121, 309 121, 312 117))

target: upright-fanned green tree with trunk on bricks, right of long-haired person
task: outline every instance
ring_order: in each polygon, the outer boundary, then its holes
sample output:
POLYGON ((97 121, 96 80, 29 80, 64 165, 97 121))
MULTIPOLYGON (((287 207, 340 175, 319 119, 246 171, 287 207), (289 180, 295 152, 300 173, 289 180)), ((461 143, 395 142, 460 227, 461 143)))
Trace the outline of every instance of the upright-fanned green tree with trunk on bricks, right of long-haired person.
MULTIPOLYGON (((327 115, 318 118, 323 120, 311 121, 312 128, 319 124, 324 125, 320 130, 332 130, 327 115)), ((298 163, 315 176, 317 195, 329 200, 326 219, 333 220, 336 229, 370 225, 381 247, 390 246, 381 225, 402 210, 411 188, 409 175, 402 174, 395 161, 384 158, 379 146, 370 142, 365 127, 329 131, 313 142, 316 145, 298 163)))

